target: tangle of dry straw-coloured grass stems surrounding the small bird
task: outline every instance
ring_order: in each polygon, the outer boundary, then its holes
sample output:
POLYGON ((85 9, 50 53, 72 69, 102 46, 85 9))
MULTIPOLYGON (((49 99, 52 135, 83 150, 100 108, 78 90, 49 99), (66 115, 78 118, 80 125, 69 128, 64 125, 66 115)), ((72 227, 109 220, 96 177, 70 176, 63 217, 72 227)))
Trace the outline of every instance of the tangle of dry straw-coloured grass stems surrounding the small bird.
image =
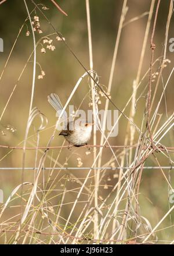
MULTIPOLYGON (((52 1, 54 2, 54 1, 52 1)), ((115 40, 115 47, 113 51, 113 59, 109 73, 108 85, 102 85, 102 78, 99 72, 95 72, 95 64, 93 63, 93 48, 92 48, 92 31, 93 24, 90 22, 90 5, 89 0, 86 0, 86 20, 89 42, 89 63, 90 70, 86 69, 83 62, 79 61, 74 51, 69 47, 68 40, 64 41, 63 35, 56 31, 52 23, 45 16, 46 10, 42 9, 42 5, 35 6, 32 1, 34 9, 30 12, 26 1, 27 19, 24 24, 27 24, 28 30, 31 31, 32 37, 32 52, 24 65, 17 83, 14 85, 5 106, 2 109, 0 120, 3 119, 6 111, 8 111, 9 102, 12 100, 18 83, 23 76, 28 63, 32 63, 32 84, 30 95, 29 112, 27 124, 23 123, 24 139, 14 145, 14 147, 22 147, 23 153, 21 155, 21 182, 10 193, 8 200, 1 204, 0 212, 0 236, 1 243, 5 244, 125 244, 125 243, 173 243, 172 234, 166 233, 160 240, 158 238, 161 232, 168 232, 173 227, 173 209, 174 205, 169 204, 169 191, 172 189, 172 175, 171 170, 164 170, 162 163, 170 166, 173 164, 172 147, 173 137, 173 111, 167 110, 166 91, 171 83, 174 68, 170 67, 170 72, 165 74, 165 67, 170 62, 166 58, 166 51, 168 47, 169 25, 171 23, 173 2, 170 1, 168 17, 166 19, 166 30, 164 33, 164 48, 159 57, 155 57, 154 35, 156 33, 156 20, 158 21, 158 7, 160 9, 160 1, 151 1, 149 11, 126 20, 126 15, 129 12, 129 3, 124 0, 122 5, 122 12, 120 14, 120 21, 115 40), (40 37, 37 41, 34 26, 32 25, 33 15, 37 13, 40 20, 44 20, 51 27, 52 34, 40 37), (148 18, 146 19, 146 16, 148 18), (135 79, 129 84, 131 87, 131 94, 128 100, 124 101, 124 107, 121 109, 115 102, 115 97, 112 93, 114 87, 114 72, 117 68, 117 55, 121 44, 122 30, 133 22, 139 22, 140 19, 146 22, 146 29, 144 30, 144 38, 142 43, 142 51, 139 56, 139 65, 137 66, 137 73, 135 79), (66 151, 66 158, 64 158, 65 141, 59 148, 51 148, 54 143, 56 133, 55 126, 48 127, 49 116, 45 116, 38 108, 33 105, 35 95, 35 81, 37 66, 38 47, 42 44, 42 51, 45 48, 43 40, 52 40, 55 38, 64 44, 67 51, 75 56, 79 66, 84 69, 84 74, 77 77, 77 83, 73 87, 66 104, 64 104, 63 111, 67 109, 71 99, 75 97, 77 91, 83 91, 85 83, 89 84, 89 90, 78 108, 84 101, 88 101, 93 109, 93 120, 99 122, 99 133, 96 127, 93 133, 93 148, 90 151, 86 148, 72 148, 66 151), (48 39, 49 38, 49 39, 48 39), (151 61, 144 72, 144 59, 146 58, 146 51, 150 47, 149 38, 151 38, 151 61), (43 46, 44 45, 44 46, 43 46), (156 58, 156 59, 155 59, 156 58), (155 70, 155 71, 154 71, 155 70), (143 74, 144 72, 144 74, 143 74), (148 79, 149 76, 149 79, 148 79), (166 77, 164 79, 163 77, 166 77), (162 84, 162 90, 160 85, 162 84), (103 97, 102 97, 103 95, 103 97), (110 97, 111 96, 111 97, 110 97), (140 111, 139 101, 141 101, 142 113, 141 119, 137 122, 136 115, 140 111), (124 148, 114 148, 110 140, 110 134, 104 131, 106 125, 106 115, 104 116, 103 125, 100 123, 99 109, 102 102, 104 110, 107 112, 109 108, 119 109, 119 118, 117 122, 123 120, 124 128, 124 148), (143 103, 142 103, 143 102, 143 103), (162 115, 161 105, 165 105, 165 111, 162 115), (34 123, 35 131, 32 133, 34 123), (138 123, 138 125, 137 125, 138 123), (45 131, 49 132, 49 140, 46 143, 46 148, 40 147, 41 137, 45 131), (34 140, 33 140, 34 138, 34 140), (166 143, 165 143, 166 141, 166 143), (27 150, 27 145, 34 148, 31 153, 27 150), (102 147, 95 147, 95 145, 102 145, 102 147), (104 147, 107 146, 107 147, 104 147), (91 152, 93 151, 93 154, 91 152), (107 152, 107 153, 106 153, 107 152), (107 154, 107 158, 104 157, 107 154), (86 158, 86 160, 85 160, 86 158), (30 159, 28 161, 28 159, 30 159), (73 161, 72 161, 73 159, 73 161), (84 160, 83 160, 84 159, 84 160), (69 162, 77 169, 62 170, 61 168, 71 167, 69 162), (83 161, 86 161, 86 166, 89 167, 87 172, 81 172, 83 161), (26 175, 25 168, 27 164, 34 166, 30 178, 26 175), (151 223, 146 216, 148 211, 158 212, 154 209, 154 205, 147 205, 146 189, 148 185, 148 177, 144 175, 144 166, 158 166, 158 170, 151 169, 151 172, 158 172, 162 176, 162 182, 168 189, 166 193, 166 210, 160 212, 161 217, 157 222, 151 223), (107 167, 113 168, 108 173, 107 167), (119 168, 115 170, 114 168, 119 168), (49 168, 49 170, 44 170, 49 168), (57 169, 58 168, 58 169, 57 169), (60 168, 60 169, 59 169, 60 168), (126 168, 126 169, 125 169, 126 168), (166 173, 167 172, 167 173, 166 173), (26 181, 26 176, 28 181, 26 181), (147 179, 147 180, 146 180, 147 179), (102 192, 101 192, 102 191, 102 192), (145 211, 144 211, 145 210, 145 211), (165 220, 170 218, 166 225, 165 220), (164 224, 165 223, 165 224, 164 224)), ((10 5, 10 3, 7 3, 10 5)), ((58 6, 60 7, 60 6, 58 6)), ((0 5, 1 8, 1 5, 0 5)), ((56 8, 56 7, 55 7, 56 8)), ((59 9, 59 8, 58 8, 59 9)), ((64 13, 64 10, 59 9, 64 13)), ((36 15, 36 14, 35 14, 36 15)), ((5 66, 1 73, 8 68, 10 56, 17 44, 21 33, 24 33, 25 25, 21 26, 19 34, 14 41, 14 45, 5 66)), ((116 33, 115 33, 116 34, 116 33)), ((51 47, 54 45, 50 41, 51 47)), ((156 45, 156 48, 159 47, 156 45)), ((148 58, 149 59, 149 58, 148 58)), ((49 69, 49 66, 48 66, 49 69)), ((42 70, 42 67, 41 67, 42 70)), ((41 75, 43 72, 41 73, 41 75)), ((44 76, 44 75, 43 75, 44 76)), ((124 94, 122 90, 122 94, 124 94)), ((41 95, 42 97, 42 95, 41 95)), ((46 98, 42 98, 46 102, 46 98)), ((62 113, 63 113, 62 111, 62 113)), ((57 120, 56 125, 60 122, 61 115, 57 120)), ((117 125, 114 123, 114 127, 117 125)), ((122 129, 119 125, 119 129, 122 129)), ((1 131, 2 132, 2 131, 1 131)), ((111 131, 110 131, 111 133, 111 131)), ((119 134, 118 134, 119 136, 119 134)), ((3 143, 1 143, 3 144, 3 143)), ((13 147, 13 145, 12 145, 13 147)), ((2 150, 5 150, 2 148, 2 150)), ((17 149, 16 149, 17 150, 17 149)), ((1 162, 5 161, 9 155, 13 154, 13 149, 3 153, 1 162)), ((72 167, 73 167, 72 166, 72 167)), ((155 176, 151 177, 154 187, 155 176)), ((155 190, 155 188, 154 188, 155 190)), ((158 195, 160 197, 160 195, 158 195)), ((155 219, 156 221, 156 219, 155 219)), ((160 235, 161 237, 161 235, 160 235)))

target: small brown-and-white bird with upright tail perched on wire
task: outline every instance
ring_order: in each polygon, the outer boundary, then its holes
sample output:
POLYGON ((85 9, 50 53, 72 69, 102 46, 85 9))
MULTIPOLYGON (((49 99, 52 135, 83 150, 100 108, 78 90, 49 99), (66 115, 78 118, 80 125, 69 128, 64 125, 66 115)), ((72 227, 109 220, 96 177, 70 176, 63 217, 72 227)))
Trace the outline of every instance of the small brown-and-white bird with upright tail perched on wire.
MULTIPOLYGON (((55 93, 48 95, 48 102, 56 110, 56 112, 61 113, 63 110, 63 105, 59 99, 59 96, 55 93)), ((63 112, 62 118, 67 120, 67 115, 63 112)), ((64 136, 70 145, 75 147, 80 147, 82 145, 88 145, 92 134, 93 123, 88 122, 88 120, 78 119, 74 121, 67 122, 67 127, 63 126, 63 130, 60 131, 59 135, 64 136), (66 129, 65 129, 66 128, 66 129)))

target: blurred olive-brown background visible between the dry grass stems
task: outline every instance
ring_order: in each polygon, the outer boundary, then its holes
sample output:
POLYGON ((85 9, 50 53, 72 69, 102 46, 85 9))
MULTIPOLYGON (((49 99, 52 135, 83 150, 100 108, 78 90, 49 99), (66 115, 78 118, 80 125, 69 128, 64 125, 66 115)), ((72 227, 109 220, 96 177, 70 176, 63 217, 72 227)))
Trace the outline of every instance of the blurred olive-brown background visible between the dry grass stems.
MULTIPOLYGON (((66 11, 68 16, 64 16, 60 13, 51 1, 38 1, 37 3, 44 4, 49 10, 44 10, 44 13, 50 19, 50 22, 56 27, 64 38, 66 38, 67 44, 73 49, 73 52, 78 56, 83 65, 89 70, 89 49, 88 49, 88 30, 86 24, 86 8, 85 1, 82 0, 60 0, 59 2, 61 8, 66 11)), ((34 5, 30 1, 27 1, 30 10, 34 9, 34 5)), ((113 58, 115 39, 117 37, 118 24, 121 16, 122 0, 95 0, 90 1, 90 15, 91 15, 91 26, 92 26, 92 44, 93 44, 93 65, 94 70, 100 77, 100 83, 104 86, 108 86, 108 79, 111 68, 111 61, 113 58)), ((125 22, 128 22, 133 17, 139 16, 144 12, 148 12, 150 9, 150 0, 129 0, 128 1, 128 13, 126 15, 125 22)), ((154 42, 156 44, 155 48, 155 59, 162 55, 164 49, 164 39, 165 39, 165 27, 166 20, 169 10, 169 0, 162 0, 160 4, 160 10, 158 13, 157 27, 154 35, 154 42)), ((46 22, 42 17, 41 13, 38 11, 35 15, 39 16, 41 23, 42 34, 36 33, 36 38, 44 37, 46 35, 52 34, 52 27, 46 22)), ((33 13, 34 16, 34 13, 33 13)), ((17 34, 19 33, 20 27, 23 25, 24 20, 27 17, 26 8, 23 1, 21 0, 7 0, 5 3, 0 5, 0 37, 3 38, 4 51, 0 53, 0 70, 4 69, 5 62, 10 54, 10 50, 13 47, 14 41, 16 40, 17 34)), ((121 41, 118 48, 117 62, 114 71, 114 80, 111 90, 111 97, 119 109, 124 108, 126 102, 132 94, 132 84, 133 80, 136 78, 137 67, 139 65, 140 53, 142 51, 142 44, 144 38, 144 31, 146 29, 147 15, 135 22, 129 23, 122 29, 121 41)), ((154 18, 154 15, 153 15, 154 18)), ((30 29, 29 22, 24 25, 17 42, 14 45, 12 55, 8 61, 8 64, 3 72, 0 80, 0 113, 2 113, 6 102, 9 99, 10 94, 13 91, 12 98, 10 98, 9 104, 6 111, 1 119, 1 131, 6 133, 0 135, 1 145, 12 145, 15 146, 24 140, 24 134, 26 131, 28 111, 30 106, 30 96, 31 96, 31 84, 32 84, 32 58, 24 70, 22 76, 19 79, 21 70, 23 70, 24 65, 26 65, 27 59, 32 51, 32 35, 26 36, 27 31, 30 29), (15 86, 17 83, 17 86, 15 86), (10 125, 16 129, 12 132, 6 129, 6 126, 10 125)), ((173 34, 173 24, 174 20, 172 17, 171 26, 169 29, 169 38, 174 37, 173 34)), ((152 29, 152 27, 151 27, 152 29)), ((150 31, 151 31, 150 29, 150 31)), ((151 33, 150 33, 151 34, 151 33)), ((40 134, 39 145, 46 145, 49 141, 50 136, 53 132, 53 125, 56 122, 55 111, 48 104, 47 95, 50 93, 57 93, 63 104, 66 103, 68 96, 73 90, 75 84, 77 83, 79 77, 85 73, 84 69, 79 65, 74 56, 68 51, 63 42, 56 41, 56 35, 50 35, 53 39, 53 45, 55 45, 55 50, 50 51, 46 48, 46 53, 41 52, 42 45, 37 47, 37 76, 41 74, 41 69, 44 70, 45 76, 43 79, 35 80, 35 92, 34 92, 34 106, 44 113, 48 119, 48 126, 50 129, 43 131, 40 134), (41 68, 40 66, 41 65, 41 68)), ((143 70, 141 77, 147 71, 150 65, 150 38, 148 38, 148 44, 146 48, 146 53, 143 62, 143 70)), ((169 52, 169 45, 167 48, 166 56, 171 60, 165 67, 162 74, 162 79, 164 83, 168 79, 168 76, 173 67, 173 54, 169 52)), ((157 70, 159 63, 154 67, 157 70)), ((144 79, 140 86, 140 90, 137 95, 143 91, 148 81, 148 76, 144 79)), ((153 87, 154 89, 154 87, 153 87)), ((89 86, 88 79, 84 79, 82 84, 79 86, 77 92, 74 94, 71 104, 78 108, 82 99, 88 94, 89 86)), ((155 106, 160 98, 162 92, 162 83, 160 82, 157 97, 155 98, 155 106)), ((162 101, 160 106, 159 114, 162 114, 161 122, 166 120, 166 115, 170 115, 173 112, 173 75, 169 81, 168 87, 166 89, 166 101, 167 101, 167 113, 165 108, 165 101, 162 101)), ((147 91, 143 94, 146 96, 147 91)), ((105 98, 101 98, 102 104, 99 106, 101 109, 104 107, 105 98)), ((142 117, 144 113, 145 100, 143 97, 139 99, 137 103, 135 123, 140 126, 142 122, 142 117)), ((87 95, 84 102, 82 103, 82 109, 89 109, 90 99, 87 95)), ((110 109, 113 106, 110 105, 110 109)), ((126 115, 129 115, 130 107, 125 111, 126 115)), ((30 136, 35 134, 39 120, 35 120, 30 128, 30 136)), ((127 121, 124 117, 121 118, 119 122, 119 133, 117 137, 110 138, 110 143, 113 145, 124 145, 125 133, 126 133, 127 121)), ((137 136, 137 134, 136 134, 137 136)), ((136 137, 137 138, 137 137, 136 137)), ((37 136, 31 137, 28 140, 27 145, 35 145, 37 136)), ((63 138, 56 137, 53 140, 52 145, 61 145, 63 143, 63 138)), ((97 132, 97 142, 100 141, 100 132, 97 132)), ((136 142, 136 141, 135 141, 136 142)), ((93 140, 90 140, 90 144, 93 140)), ((173 146, 173 133, 170 131, 167 136, 164 137, 162 143, 168 147, 173 146)), ((22 143, 20 144, 23 145, 22 143)), ((77 158, 81 158, 83 166, 90 166, 93 162, 93 154, 86 155, 86 149, 73 148, 69 151, 67 148, 61 152, 59 162, 67 162, 68 166, 77 166, 77 158)), ((26 155, 26 166, 34 166, 34 151, 27 151, 26 155)), ((39 152, 41 157, 42 152, 39 152)), ((56 156, 57 151, 52 151, 49 155, 56 156)), ((104 154, 102 161, 107 162, 111 158, 111 151, 104 149, 104 154)), ((0 148, 0 166, 1 167, 21 167, 23 151, 21 150, 7 150, 0 148)), ((160 163, 162 166, 169 166, 168 159, 160 156, 160 163)), ((46 162, 48 166, 50 165, 50 159, 46 162)), ((117 166, 117 163, 115 163, 117 166)), ((148 159, 146 162, 147 166, 155 166, 155 162, 152 158, 148 159)), ((74 170, 74 175, 80 178, 85 177, 86 171, 74 170)), ((173 185, 173 170, 165 171, 166 177, 170 177, 171 185, 173 185)), ((26 171, 24 173, 25 181, 33 180, 32 171, 26 171)), ((21 183, 21 170, 1 170, 0 171, 0 189, 4 191, 4 200, 6 200, 12 190, 21 183)), ((113 179, 113 171, 108 171, 103 179, 102 187, 100 193, 102 196, 106 195, 111 189, 115 180, 113 179), (104 185, 108 185, 107 189, 104 189, 104 185)), ((71 185, 70 185, 71 186, 71 185)), ((165 212, 169 209, 168 201, 168 185, 164 179, 164 176, 160 170, 148 169, 143 171, 142 182, 140 184, 140 211, 142 211, 143 216, 145 216, 154 226, 165 212)), ((73 200, 73 195, 70 195, 71 200, 73 200)), ((111 198, 112 200, 112 198, 111 198)), ((70 206, 64 209, 64 214, 66 216, 70 206)), ((79 205, 79 210, 82 205, 79 205)), ((11 208, 7 215, 14 214, 16 208, 11 208)), ((78 214, 78 212, 77 212, 78 214)), ((161 229, 168 227, 173 224, 173 214, 168 216, 165 221, 160 226, 161 229)), ((173 228, 164 229, 158 232, 158 238, 160 240, 172 240, 173 228)))

